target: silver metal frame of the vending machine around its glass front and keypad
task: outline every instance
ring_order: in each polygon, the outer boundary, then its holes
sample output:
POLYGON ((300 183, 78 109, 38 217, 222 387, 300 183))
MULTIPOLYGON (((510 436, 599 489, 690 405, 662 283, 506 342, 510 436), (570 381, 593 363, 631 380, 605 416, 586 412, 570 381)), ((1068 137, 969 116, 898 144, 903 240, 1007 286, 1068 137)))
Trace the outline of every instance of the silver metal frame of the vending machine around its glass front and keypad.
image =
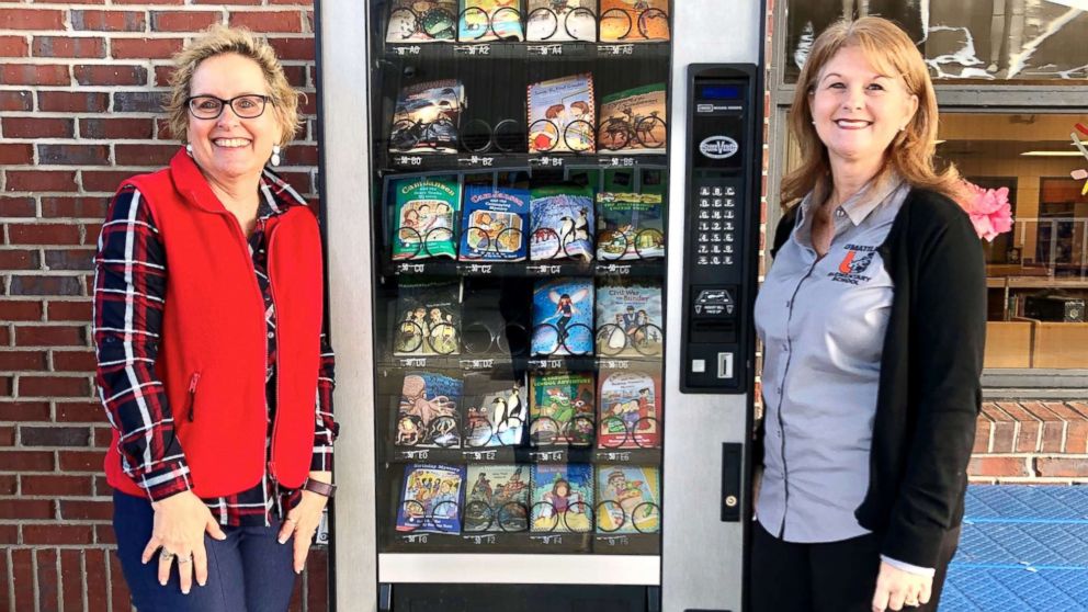
MULTIPOLYGON (((375 201, 381 194, 370 172, 370 146, 377 131, 372 125, 370 107, 371 72, 376 70, 367 39, 371 15, 366 2, 316 2, 322 225, 328 250, 329 324, 337 352, 337 419, 343 431, 337 444, 339 491, 332 508, 335 609, 389 610, 393 593, 388 583, 479 582, 473 570, 480 567, 487 568, 488 585, 524 588, 529 582, 544 589, 549 583, 650 587, 651 597, 645 604, 645 610, 650 611, 743 609, 751 515, 745 492, 749 488, 753 369, 748 313, 758 264, 766 0, 673 0, 672 11, 661 554, 387 554, 378 552, 375 518, 375 509, 387 501, 388 492, 379 490, 376 476, 381 457, 374 420, 375 410, 384 407, 374 401, 377 330, 376 288, 371 282, 375 250, 371 241, 372 211, 381 206, 375 201), (695 64, 704 66, 691 66, 695 64), (730 89, 737 83, 740 89, 730 89), (696 91, 703 86, 710 89, 696 91), (723 92, 724 99, 719 95, 723 92), (706 100, 696 100, 696 93, 705 94, 706 100), (739 98, 729 102, 730 95, 739 98), (722 106, 716 109, 718 102, 722 106), (717 111, 735 115, 736 105, 744 103, 745 121, 755 128, 730 136, 733 145, 707 137, 695 143, 693 138, 699 134, 692 131, 696 122, 689 114, 699 112, 700 103, 710 104, 704 117, 707 120, 714 120, 717 111), (704 144, 705 140, 709 141, 704 144), (733 151, 728 152, 730 147, 733 151), (712 155, 696 158, 701 150, 712 155), (713 168, 713 161, 706 168, 700 167, 701 160, 722 155, 736 156, 733 161, 743 159, 744 171, 722 173, 713 168), (699 253, 694 226, 699 189, 702 184, 713 186, 715 180, 723 186, 740 181, 736 184, 744 186, 735 192, 734 201, 746 213, 734 234, 738 248, 748 242, 745 263, 738 268, 739 275, 717 283, 728 290, 737 309, 736 317, 729 310, 726 322, 706 319, 702 308, 695 316, 688 304, 709 298, 700 293, 702 290, 717 288, 710 286, 715 283, 706 282, 707 273, 715 277, 712 271, 700 269, 702 275, 693 273, 699 253), (722 326, 732 326, 733 335, 704 333, 722 331, 722 326), (712 342, 703 342, 695 350, 687 345, 684 338, 710 338, 712 342), (693 350, 711 350, 714 356, 702 359, 693 350), (730 356, 723 358, 723 353, 730 356), (706 363, 696 366, 700 360, 706 363), (725 360, 732 364, 728 375, 723 370, 725 360), (693 369, 702 372, 703 367, 717 381, 692 377, 693 369), (529 568, 544 579, 526 580, 529 568)), ((711 314, 714 313, 724 310, 711 314)))

